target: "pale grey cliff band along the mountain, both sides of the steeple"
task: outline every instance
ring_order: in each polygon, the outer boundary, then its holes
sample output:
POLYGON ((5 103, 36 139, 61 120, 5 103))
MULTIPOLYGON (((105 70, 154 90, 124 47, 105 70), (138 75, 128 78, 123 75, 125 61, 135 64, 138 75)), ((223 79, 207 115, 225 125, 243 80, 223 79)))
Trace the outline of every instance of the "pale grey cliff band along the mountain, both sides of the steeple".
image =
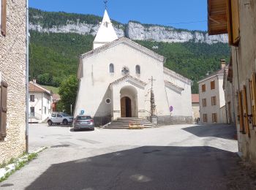
MULTIPOLYGON (((53 26, 43 28, 40 24, 29 24, 32 31, 48 33, 77 33, 91 34, 95 36, 99 29, 99 24, 74 23, 67 20, 64 26, 53 26)), ((138 22, 130 21, 127 25, 114 25, 118 37, 129 37, 129 39, 152 40, 157 42, 206 42, 213 44, 217 42, 228 42, 228 37, 224 35, 208 36, 204 31, 188 31, 176 29, 169 26, 143 25, 138 22)))

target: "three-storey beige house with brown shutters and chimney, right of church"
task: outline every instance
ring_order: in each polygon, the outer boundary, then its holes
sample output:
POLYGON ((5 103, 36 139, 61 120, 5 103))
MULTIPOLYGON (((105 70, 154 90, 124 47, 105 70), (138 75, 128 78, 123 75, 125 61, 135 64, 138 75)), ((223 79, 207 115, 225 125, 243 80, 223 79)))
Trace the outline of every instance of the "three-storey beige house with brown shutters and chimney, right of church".
POLYGON ((226 123, 225 94, 223 77, 225 60, 221 61, 221 69, 198 81, 200 101, 200 123, 226 123))

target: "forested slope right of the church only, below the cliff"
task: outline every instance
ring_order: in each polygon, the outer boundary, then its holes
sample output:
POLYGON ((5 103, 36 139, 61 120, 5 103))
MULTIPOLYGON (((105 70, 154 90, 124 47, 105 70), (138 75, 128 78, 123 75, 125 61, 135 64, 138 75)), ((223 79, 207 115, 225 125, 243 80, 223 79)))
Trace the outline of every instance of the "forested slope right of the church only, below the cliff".
POLYGON ((230 59, 230 47, 220 42, 213 45, 195 42, 137 42, 165 56, 168 69, 192 80, 193 94, 198 93, 198 80, 206 77, 207 72, 211 74, 220 69, 220 59, 225 58, 227 63, 230 59))

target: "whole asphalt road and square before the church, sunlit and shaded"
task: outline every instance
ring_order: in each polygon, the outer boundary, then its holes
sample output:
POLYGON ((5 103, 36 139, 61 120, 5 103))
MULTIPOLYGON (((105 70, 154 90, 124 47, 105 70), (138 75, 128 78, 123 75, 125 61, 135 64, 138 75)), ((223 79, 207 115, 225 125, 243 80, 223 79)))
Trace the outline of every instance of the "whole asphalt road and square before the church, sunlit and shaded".
POLYGON ((232 189, 238 165, 231 126, 143 130, 30 126, 39 153, 0 189, 232 189))

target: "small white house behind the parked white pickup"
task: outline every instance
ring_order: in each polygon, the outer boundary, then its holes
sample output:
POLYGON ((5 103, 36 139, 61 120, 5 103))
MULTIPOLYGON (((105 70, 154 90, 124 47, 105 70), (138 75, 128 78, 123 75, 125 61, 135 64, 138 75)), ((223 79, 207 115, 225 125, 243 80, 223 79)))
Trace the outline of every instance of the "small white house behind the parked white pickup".
POLYGON ((52 112, 53 94, 37 84, 29 82, 29 122, 42 123, 52 112))

